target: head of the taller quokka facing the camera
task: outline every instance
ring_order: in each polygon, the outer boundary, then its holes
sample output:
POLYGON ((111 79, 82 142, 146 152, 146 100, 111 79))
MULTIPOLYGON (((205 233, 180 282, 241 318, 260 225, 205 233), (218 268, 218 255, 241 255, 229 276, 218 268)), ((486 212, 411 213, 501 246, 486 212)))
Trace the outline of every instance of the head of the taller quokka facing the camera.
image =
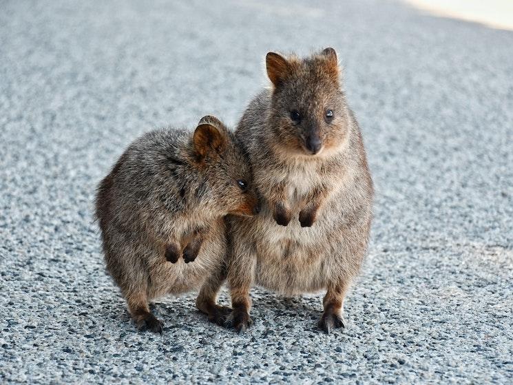
POLYGON ((306 59, 269 52, 266 70, 273 83, 268 123, 278 146, 316 156, 344 143, 348 109, 333 48, 306 59))

